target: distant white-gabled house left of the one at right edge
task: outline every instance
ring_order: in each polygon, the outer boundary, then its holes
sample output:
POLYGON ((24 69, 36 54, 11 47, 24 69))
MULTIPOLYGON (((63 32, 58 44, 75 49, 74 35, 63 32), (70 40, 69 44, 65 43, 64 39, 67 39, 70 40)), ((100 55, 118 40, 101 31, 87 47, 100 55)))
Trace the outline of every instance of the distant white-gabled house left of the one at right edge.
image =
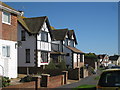
POLYGON ((98 61, 100 63, 100 66, 108 66, 111 62, 109 61, 109 56, 107 54, 100 54, 98 55, 98 61))

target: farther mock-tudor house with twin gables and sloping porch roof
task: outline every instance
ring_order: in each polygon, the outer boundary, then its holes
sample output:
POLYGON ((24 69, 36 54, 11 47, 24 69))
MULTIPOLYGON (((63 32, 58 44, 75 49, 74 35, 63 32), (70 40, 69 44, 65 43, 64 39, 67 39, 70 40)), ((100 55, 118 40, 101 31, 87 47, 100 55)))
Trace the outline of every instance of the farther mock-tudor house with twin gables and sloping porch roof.
POLYGON ((65 60, 68 68, 80 68, 84 66, 84 53, 78 50, 74 30, 55 29, 52 30, 52 52, 51 59, 59 62, 65 60))

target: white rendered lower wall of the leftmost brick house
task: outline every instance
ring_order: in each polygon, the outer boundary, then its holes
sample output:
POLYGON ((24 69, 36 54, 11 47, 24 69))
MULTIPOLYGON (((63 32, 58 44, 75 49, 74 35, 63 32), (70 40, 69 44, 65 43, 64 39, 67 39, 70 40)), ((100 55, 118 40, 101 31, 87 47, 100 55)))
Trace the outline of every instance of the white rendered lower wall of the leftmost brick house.
POLYGON ((0 40, 0 75, 9 78, 17 77, 17 48, 15 48, 15 44, 14 41, 0 40), (2 46, 5 45, 10 46, 10 57, 2 56, 2 46))

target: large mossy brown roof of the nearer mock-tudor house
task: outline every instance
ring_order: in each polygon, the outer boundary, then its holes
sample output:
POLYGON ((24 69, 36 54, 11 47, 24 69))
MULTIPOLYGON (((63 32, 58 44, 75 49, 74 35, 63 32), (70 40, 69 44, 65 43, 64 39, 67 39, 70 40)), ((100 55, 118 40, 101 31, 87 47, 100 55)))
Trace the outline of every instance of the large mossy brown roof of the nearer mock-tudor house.
POLYGON ((39 33, 45 21, 49 25, 47 16, 33 18, 23 18, 19 16, 18 21, 31 34, 39 33))

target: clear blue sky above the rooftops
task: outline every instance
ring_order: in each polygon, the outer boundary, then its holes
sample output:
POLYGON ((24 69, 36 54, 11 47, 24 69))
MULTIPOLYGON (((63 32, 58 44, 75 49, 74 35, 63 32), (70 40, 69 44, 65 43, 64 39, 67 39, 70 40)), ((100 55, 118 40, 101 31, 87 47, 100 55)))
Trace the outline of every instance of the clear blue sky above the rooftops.
POLYGON ((25 17, 48 16, 56 29, 74 30, 85 53, 118 53, 117 2, 6 2, 25 17))

